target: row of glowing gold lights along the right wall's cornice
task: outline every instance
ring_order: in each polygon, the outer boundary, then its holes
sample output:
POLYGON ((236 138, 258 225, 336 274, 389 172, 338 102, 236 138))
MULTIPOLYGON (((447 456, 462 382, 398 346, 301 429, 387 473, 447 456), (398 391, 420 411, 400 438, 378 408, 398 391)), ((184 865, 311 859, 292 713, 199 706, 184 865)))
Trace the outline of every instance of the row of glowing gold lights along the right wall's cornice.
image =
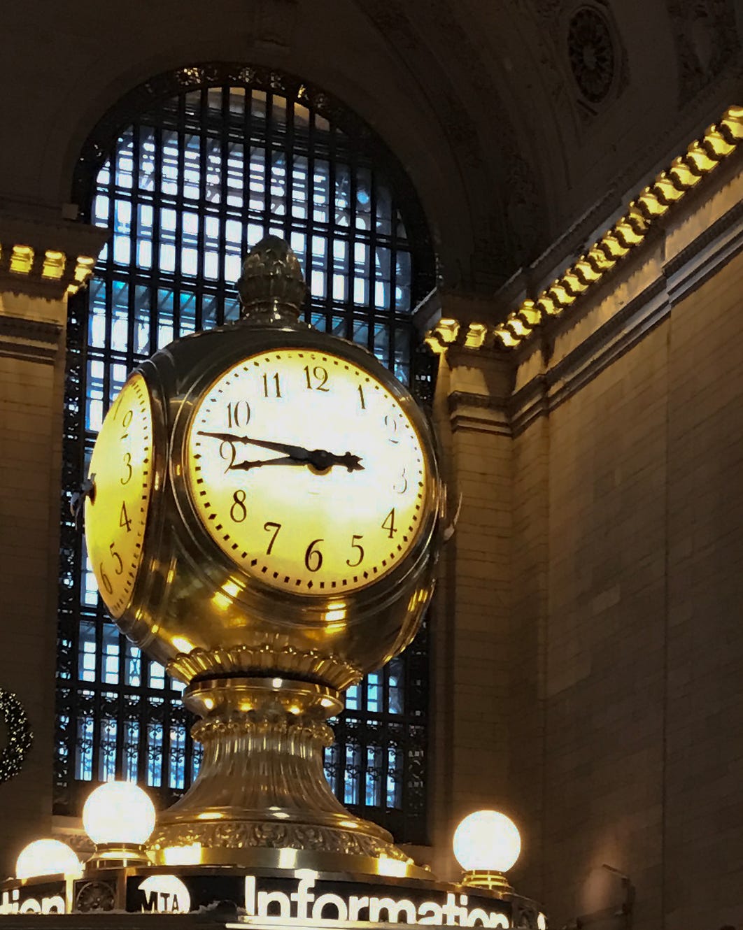
MULTIPOLYGON (((709 172, 736 150, 743 140, 743 107, 729 107, 719 123, 709 126, 701 139, 694 140, 685 153, 674 159, 631 201, 624 215, 596 240, 585 254, 540 292, 536 299, 523 300, 509 313, 505 323, 488 326, 470 323, 464 334, 466 349, 500 344, 505 349, 520 345, 536 326, 560 316, 589 287, 597 285, 618 261, 639 246, 656 219, 668 212, 709 172), (491 336, 492 339, 488 339, 491 336)), ((459 336, 461 325, 454 319, 441 319, 426 335, 434 352, 444 352, 459 336)))

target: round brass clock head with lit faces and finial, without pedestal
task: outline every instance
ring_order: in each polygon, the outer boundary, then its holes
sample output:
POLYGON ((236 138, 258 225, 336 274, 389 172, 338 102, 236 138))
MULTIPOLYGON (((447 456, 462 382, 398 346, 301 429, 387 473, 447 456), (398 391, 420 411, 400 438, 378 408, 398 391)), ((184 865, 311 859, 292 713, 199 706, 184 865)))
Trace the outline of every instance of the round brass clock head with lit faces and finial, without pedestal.
POLYGON ((410 642, 430 597, 435 444, 370 352, 298 319, 286 244, 257 246, 238 288, 238 323, 172 342, 115 399, 90 562, 129 638, 183 681, 270 653, 342 689, 410 642))

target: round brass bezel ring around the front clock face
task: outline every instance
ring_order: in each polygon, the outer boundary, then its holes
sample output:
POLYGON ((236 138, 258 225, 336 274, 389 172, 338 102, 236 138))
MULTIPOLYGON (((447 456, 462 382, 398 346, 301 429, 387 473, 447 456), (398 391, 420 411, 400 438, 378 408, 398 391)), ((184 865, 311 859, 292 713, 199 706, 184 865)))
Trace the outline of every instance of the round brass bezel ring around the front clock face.
MULTIPOLYGON (((307 329, 277 329, 257 328, 249 326, 235 326, 235 345, 229 352, 224 352, 223 346, 219 352, 209 353, 203 358, 202 366, 196 378, 182 398, 179 412, 173 424, 171 454, 169 457, 170 480, 172 482, 176 505, 182 516, 182 523, 193 542, 196 550, 203 551, 205 558, 198 560, 201 571, 209 576, 212 584, 216 583, 218 590, 224 591, 225 583, 232 582, 227 588, 226 596, 232 597, 242 604, 248 613, 260 614, 273 604, 287 606, 287 619, 296 622, 294 618, 296 605, 301 605, 303 620, 310 624, 327 626, 327 604, 343 600, 349 613, 355 611, 365 615, 368 610, 384 608, 384 601, 390 591, 394 591, 400 584, 405 583, 413 572, 427 562, 429 540, 432 538, 439 517, 441 504, 441 485, 439 480, 436 443, 433 432, 430 430, 426 417, 421 408, 412 399, 407 391, 374 356, 366 352, 355 343, 331 337, 326 333, 307 329), (281 590, 270 585, 262 578, 251 574, 239 562, 236 562, 223 551, 222 547, 212 538, 207 527, 203 524, 190 482, 187 477, 189 460, 189 437, 196 418, 198 405, 209 392, 213 384, 223 377, 227 371, 238 363, 266 352, 281 352, 282 350, 304 350, 306 352, 327 352, 356 365, 362 371, 367 371, 377 379, 400 405, 405 415, 410 419, 417 433, 418 441, 426 461, 426 493, 425 503, 420 514, 420 526, 409 550, 400 558, 399 564, 386 572, 381 578, 372 579, 369 583, 351 591, 293 591, 281 590), (234 589, 237 591, 234 592, 234 589), (350 611, 353 605, 354 611, 350 611)), ((279 611, 280 614, 283 613, 279 611)), ((278 619, 279 617, 277 617, 278 619)), ((353 622, 350 618, 349 623, 353 622)))

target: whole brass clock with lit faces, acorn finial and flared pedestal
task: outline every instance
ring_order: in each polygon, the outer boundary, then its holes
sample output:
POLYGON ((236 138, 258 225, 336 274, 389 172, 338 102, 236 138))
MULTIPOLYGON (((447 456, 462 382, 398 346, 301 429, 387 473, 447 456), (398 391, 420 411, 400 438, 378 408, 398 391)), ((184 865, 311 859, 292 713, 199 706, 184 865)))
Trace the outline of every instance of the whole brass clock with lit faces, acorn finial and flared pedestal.
POLYGON ((150 844, 276 865, 279 824, 298 868, 348 870, 348 854, 412 874, 385 830, 332 796, 321 722, 419 627, 441 541, 436 444, 370 352, 299 319, 286 243, 255 246, 237 287, 239 322, 132 375, 90 463, 103 600, 204 718, 199 776, 150 844))

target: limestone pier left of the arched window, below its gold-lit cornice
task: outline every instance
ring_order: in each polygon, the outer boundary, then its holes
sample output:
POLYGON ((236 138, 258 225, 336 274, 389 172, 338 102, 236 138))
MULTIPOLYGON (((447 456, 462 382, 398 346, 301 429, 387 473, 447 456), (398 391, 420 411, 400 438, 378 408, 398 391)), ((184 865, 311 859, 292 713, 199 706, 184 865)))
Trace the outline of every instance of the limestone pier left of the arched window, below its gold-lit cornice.
POLYGON ((0 783, 2 877, 51 832, 65 313, 64 300, 0 294, 0 688, 34 731, 20 774, 0 783))

